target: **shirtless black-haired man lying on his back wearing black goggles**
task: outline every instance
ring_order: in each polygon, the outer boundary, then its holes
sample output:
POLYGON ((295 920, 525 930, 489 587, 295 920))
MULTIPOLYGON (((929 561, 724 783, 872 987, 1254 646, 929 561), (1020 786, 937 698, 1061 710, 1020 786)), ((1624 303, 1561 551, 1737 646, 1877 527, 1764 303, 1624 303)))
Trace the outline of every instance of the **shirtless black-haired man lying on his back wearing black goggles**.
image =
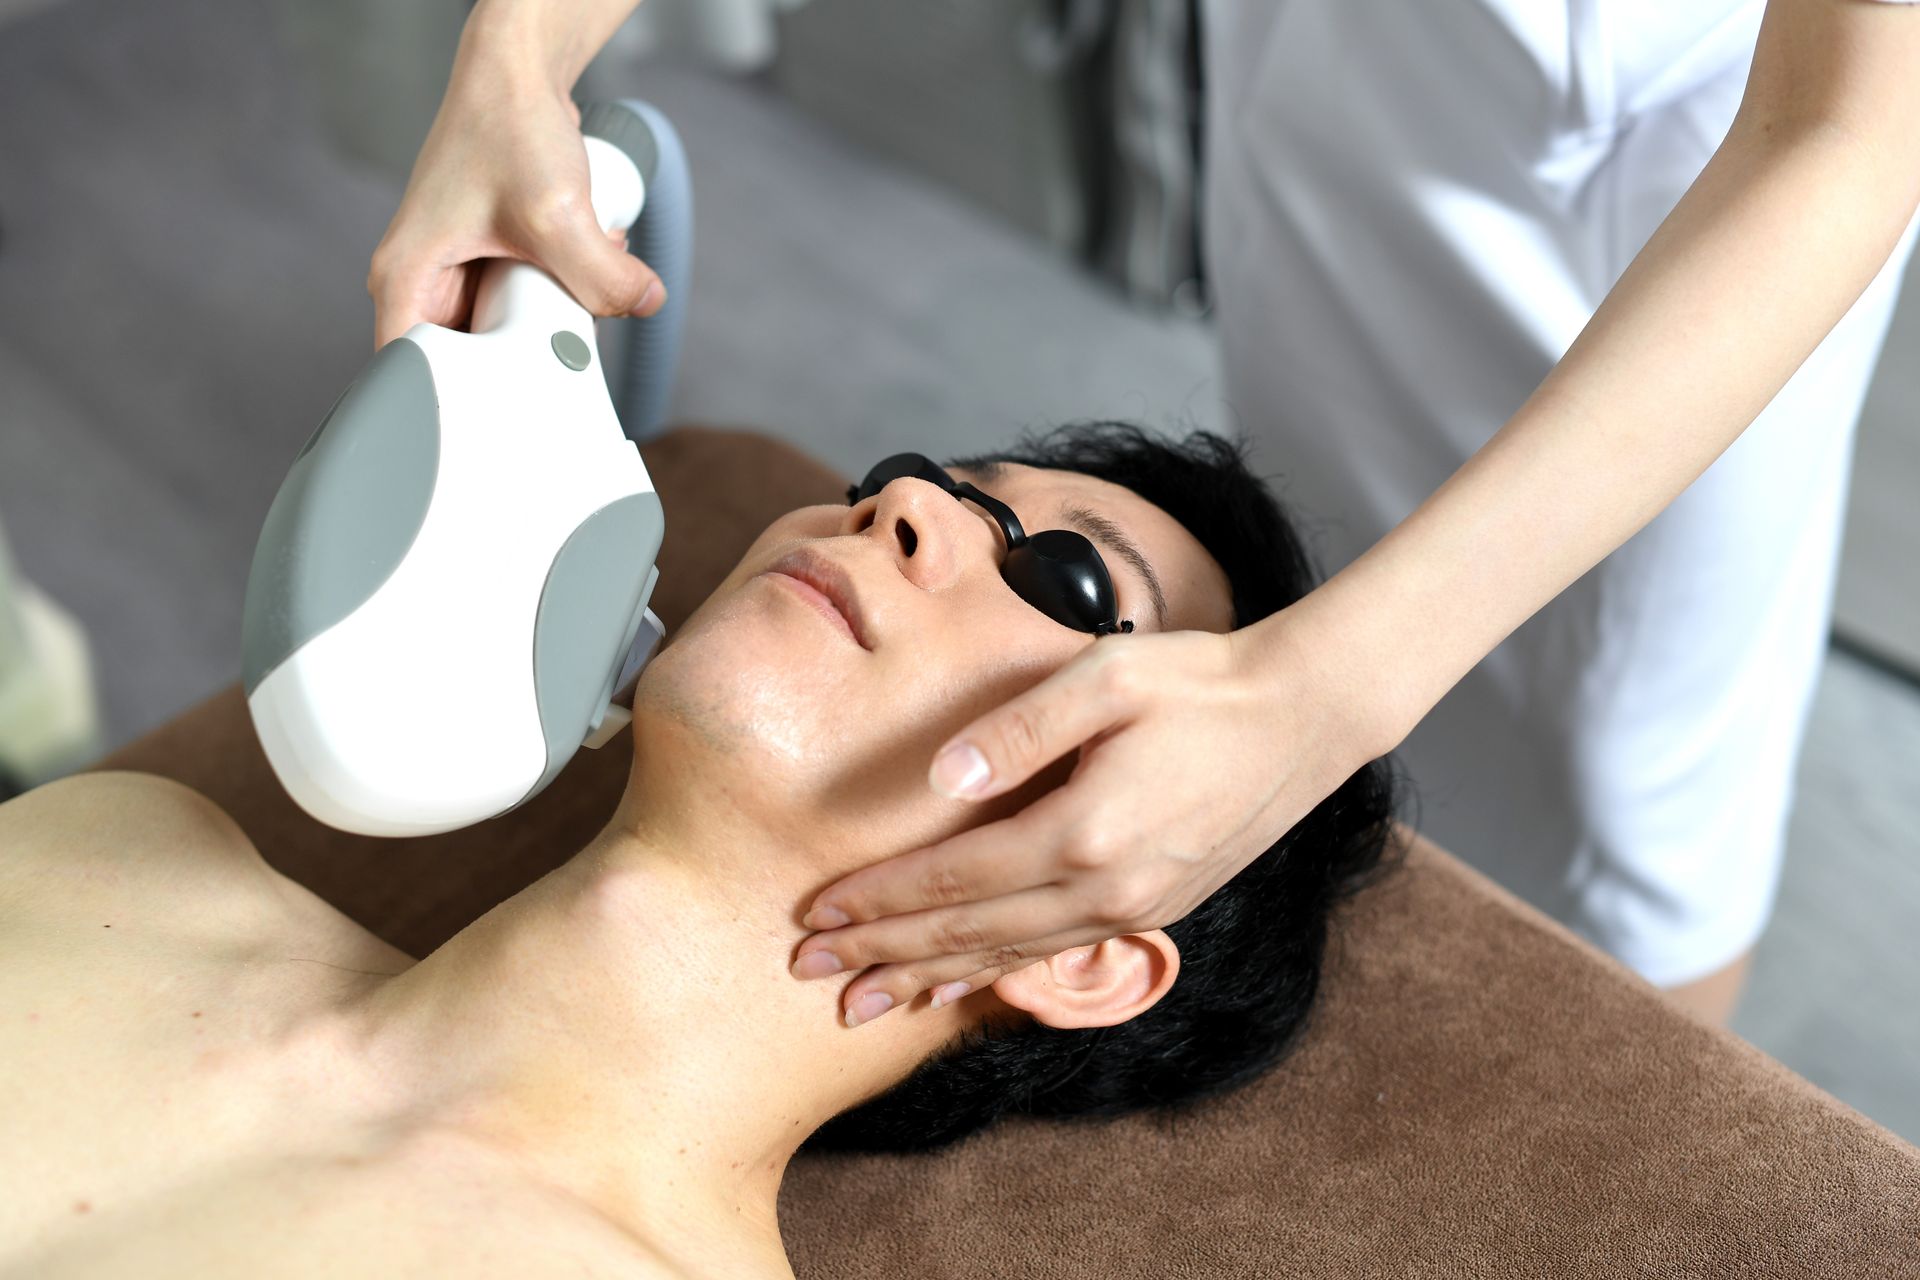
POLYGON ((1215 436, 891 462, 760 533, 641 677, 612 821, 424 960, 177 783, 0 806, 0 1276, 791 1276, 776 1194, 803 1144, 935 1148, 1269 1067, 1331 904, 1382 858, 1379 764, 1164 933, 858 1029, 845 979, 789 975, 826 883, 1071 770, 947 800, 925 762, 960 725, 1127 622, 1225 631, 1309 585, 1215 436), (1129 539, 1073 570, 1110 576, 1112 608, 1089 599, 1112 616, 1062 622, 1052 570, 1002 574, 995 507, 1129 539), (847 616, 801 578, 845 583, 847 616))

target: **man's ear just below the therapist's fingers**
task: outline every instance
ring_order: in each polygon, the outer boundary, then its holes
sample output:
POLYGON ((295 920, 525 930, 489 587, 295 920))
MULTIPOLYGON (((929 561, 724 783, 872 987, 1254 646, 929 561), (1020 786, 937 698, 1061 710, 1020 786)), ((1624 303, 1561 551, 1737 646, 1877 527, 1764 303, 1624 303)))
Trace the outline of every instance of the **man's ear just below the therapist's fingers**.
POLYGON ((1035 960, 993 994, 1046 1027, 1114 1027, 1152 1009, 1179 973, 1181 948, 1150 929, 1035 960))

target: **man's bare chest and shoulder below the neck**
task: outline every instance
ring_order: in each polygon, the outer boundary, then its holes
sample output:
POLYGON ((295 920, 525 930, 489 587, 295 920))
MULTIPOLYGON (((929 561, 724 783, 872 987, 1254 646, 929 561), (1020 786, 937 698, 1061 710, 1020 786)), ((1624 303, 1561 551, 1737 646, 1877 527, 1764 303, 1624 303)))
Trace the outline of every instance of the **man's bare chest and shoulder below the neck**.
POLYGON ((46 860, 48 823, 10 808, 0 1280, 668 1274, 507 1161, 382 1119, 330 1015, 413 961, 252 844, 180 848, 161 814, 144 846, 46 860))

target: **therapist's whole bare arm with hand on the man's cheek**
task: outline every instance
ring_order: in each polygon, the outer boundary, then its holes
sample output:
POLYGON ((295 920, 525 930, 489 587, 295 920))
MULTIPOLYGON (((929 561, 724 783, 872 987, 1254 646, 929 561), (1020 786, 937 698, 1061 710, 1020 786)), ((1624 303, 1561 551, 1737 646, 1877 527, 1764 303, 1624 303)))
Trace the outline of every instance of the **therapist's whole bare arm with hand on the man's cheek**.
POLYGON ((1467 464, 1290 608, 1227 637, 1100 641, 956 733, 931 781, 977 748, 989 781, 968 798, 1075 750, 1079 768, 1012 818, 826 887, 797 963, 864 969, 843 992, 858 1023, 1185 915, 1692 484, 1916 201, 1920 6, 1772 0, 1728 138, 1467 464))

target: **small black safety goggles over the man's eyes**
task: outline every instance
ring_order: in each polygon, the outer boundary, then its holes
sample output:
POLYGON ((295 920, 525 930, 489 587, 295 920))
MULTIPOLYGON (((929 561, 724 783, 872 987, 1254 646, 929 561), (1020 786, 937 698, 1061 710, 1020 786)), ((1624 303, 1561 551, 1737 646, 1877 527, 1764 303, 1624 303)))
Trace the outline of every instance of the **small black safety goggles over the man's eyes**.
POLYGON ((1075 631, 1112 635, 1133 629, 1133 622, 1116 622, 1119 603, 1114 595, 1114 578, 1085 533, 1041 530, 1029 535, 1020 528, 1020 516, 1012 507, 964 480, 956 482, 924 453, 895 453, 883 459, 866 480, 847 486, 847 505, 854 507, 874 497, 902 476, 935 484, 952 493, 954 501, 972 499, 993 516, 1006 539, 1000 578, 1027 604, 1075 631))

